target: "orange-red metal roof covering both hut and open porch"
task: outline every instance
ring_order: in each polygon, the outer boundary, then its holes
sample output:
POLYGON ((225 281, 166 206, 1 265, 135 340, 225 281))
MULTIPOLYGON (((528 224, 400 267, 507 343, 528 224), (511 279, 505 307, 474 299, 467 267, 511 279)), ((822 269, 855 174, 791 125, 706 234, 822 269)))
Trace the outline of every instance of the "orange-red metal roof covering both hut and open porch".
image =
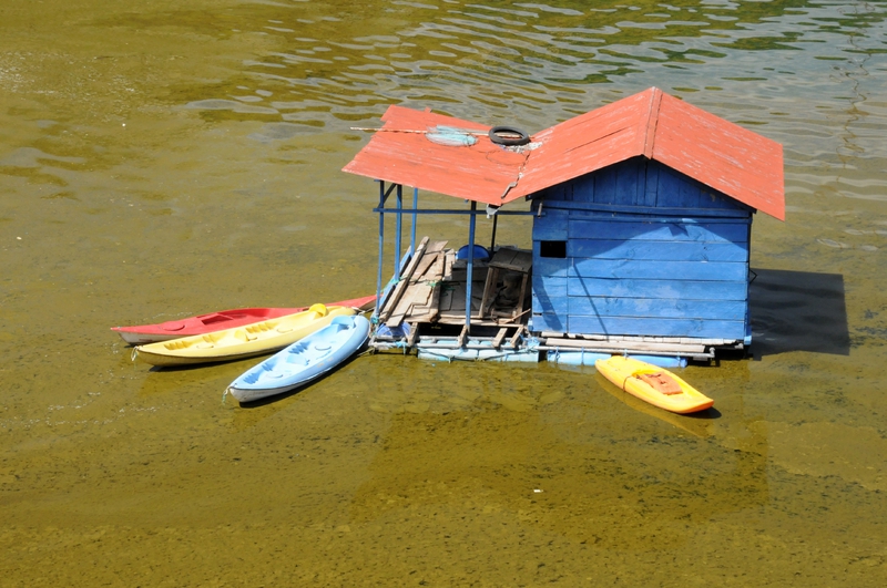
POLYGON ((390 106, 383 122, 345 172, 498 206, 643 155, 785 219, 782 145, 655 87, 541 131, 523 153, 486 136, 432 143, 437 125, 490 127, 430 112, 390 106))

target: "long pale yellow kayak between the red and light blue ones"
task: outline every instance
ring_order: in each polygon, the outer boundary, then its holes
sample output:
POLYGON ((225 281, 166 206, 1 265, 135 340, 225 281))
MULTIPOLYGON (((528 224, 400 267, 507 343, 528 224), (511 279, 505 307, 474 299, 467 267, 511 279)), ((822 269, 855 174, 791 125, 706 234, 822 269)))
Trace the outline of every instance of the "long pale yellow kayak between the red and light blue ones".
POLYGON ((139 345, 134 355, 152 365, 191 365, 272 353, 329 324, 335 317, 356 314, 349 307, 314 305, 276 319, 205 334, 139 345))

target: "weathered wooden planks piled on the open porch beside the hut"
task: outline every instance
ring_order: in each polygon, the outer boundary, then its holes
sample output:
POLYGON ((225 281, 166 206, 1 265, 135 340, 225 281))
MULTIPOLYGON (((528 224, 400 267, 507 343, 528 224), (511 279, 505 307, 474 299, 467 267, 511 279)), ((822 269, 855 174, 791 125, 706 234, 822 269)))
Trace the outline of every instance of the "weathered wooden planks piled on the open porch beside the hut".
MULTIPOLYGON (((531 310, 530 251, 499 248, 489 260, 475 260, 471 276, 471 336, 491 333, 502 341, 522 332, 531 310), (509 332, 509 330, 512 330, 509 332)), ((447 241, 424 238, 379 312, 387 327, 375 339, 405 340, 410 347, 429 329, 450 327, 459 334, 466 321, 467 262, 447 241), (399 336, 404 324, 409 336, 399 336)), ((462 332, 462 337, 467 333, 462 332)))

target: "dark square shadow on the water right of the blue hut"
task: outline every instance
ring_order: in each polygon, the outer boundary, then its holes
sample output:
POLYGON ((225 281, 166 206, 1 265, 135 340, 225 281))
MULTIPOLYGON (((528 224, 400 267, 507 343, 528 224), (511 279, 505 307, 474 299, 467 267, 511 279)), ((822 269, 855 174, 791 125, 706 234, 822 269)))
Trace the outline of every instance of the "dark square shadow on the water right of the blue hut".
POLYGON ((791 351, 850 354, 843 275, 752 271, 748 309, 755 359, 791 351))

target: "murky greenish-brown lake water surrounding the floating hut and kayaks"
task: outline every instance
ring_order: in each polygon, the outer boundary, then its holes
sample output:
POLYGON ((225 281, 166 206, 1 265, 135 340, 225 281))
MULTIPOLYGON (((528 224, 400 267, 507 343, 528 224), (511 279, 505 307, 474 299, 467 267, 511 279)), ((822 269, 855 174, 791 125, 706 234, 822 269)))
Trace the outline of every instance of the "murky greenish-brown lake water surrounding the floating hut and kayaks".
POLYGON ((886 17, 4 0, 0 584, 884 586, 886 17), (398 355, 243 409, 253 361, 152 371, 109 330, 373 291, 377 187, 340 168, 389 104, 534 132, 653 85, 785 146, 755 359, 682 372, 710 417, 398 355))

